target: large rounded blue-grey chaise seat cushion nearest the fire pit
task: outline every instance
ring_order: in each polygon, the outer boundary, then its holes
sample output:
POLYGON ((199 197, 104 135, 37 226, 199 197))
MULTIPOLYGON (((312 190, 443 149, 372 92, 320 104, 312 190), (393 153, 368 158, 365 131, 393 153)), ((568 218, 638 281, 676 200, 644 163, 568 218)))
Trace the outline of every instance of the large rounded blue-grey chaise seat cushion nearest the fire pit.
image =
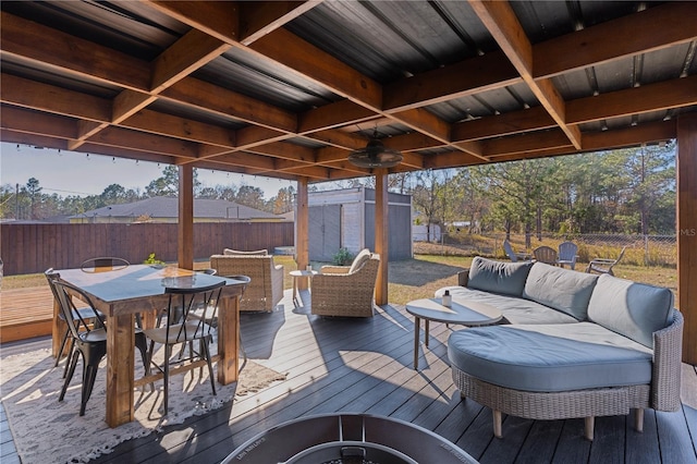
POLYGON ((523 391, 651 382, 651 351, 591 322, 460 330, 450 335, 448 356, 473 377, 523 391))

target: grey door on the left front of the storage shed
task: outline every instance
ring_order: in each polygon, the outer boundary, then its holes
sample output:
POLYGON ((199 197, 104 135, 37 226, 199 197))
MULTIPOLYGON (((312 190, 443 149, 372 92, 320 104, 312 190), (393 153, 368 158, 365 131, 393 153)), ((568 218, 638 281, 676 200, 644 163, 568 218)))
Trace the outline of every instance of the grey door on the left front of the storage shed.
POLYGON ((309 259, 331 262, 341 248, 341 205, 309 207, 309 259))

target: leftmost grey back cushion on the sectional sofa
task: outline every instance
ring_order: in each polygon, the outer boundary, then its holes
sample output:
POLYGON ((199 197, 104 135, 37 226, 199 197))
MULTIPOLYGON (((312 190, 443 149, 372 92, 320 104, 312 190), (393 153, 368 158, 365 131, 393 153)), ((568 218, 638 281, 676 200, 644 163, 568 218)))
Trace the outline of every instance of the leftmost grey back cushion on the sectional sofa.
POLYGON ((521 296, 531 262, 501 262, 477 256, 469 267, 467 286, 502 295, 521 296))

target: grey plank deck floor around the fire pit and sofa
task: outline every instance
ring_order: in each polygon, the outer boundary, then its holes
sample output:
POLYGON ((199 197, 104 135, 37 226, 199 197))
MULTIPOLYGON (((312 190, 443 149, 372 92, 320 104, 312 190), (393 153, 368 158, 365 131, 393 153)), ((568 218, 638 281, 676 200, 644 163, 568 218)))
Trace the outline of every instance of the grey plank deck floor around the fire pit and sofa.
MULTIPOLYGON (((277 312, 242 315, 249 358, 288 373, 285 381, 162 432, 126 441, 95 462, 219 462, 250 437, 283 422, 357 412, 396 417, 433 430, 482 463, 697 463, 694 366, 683 365, 682 410, 648 410, 643 434, 624 416, 597 418, 592 442, 583 438, 580 418, 506 417, 504 438, 496 439, 491 411, 461 400, 453 387, 447 355, 453 328, 431 323, 430 347, 421 345, 419 371, 413 369, 413 330, 414 320, 401 306, 387 305, 367 320, 318 318, 307 307, 294 308, 288 290, 277 312)), ((44 338, 2 349, 30 350, 47 343, 44 338)), ((5 431, 7 425, 3 436, 5 431)), ((3 443, 3 454, 11 445, 3 443)), ((2 462, 13 462, 12 454, 3 455, 2 462)))

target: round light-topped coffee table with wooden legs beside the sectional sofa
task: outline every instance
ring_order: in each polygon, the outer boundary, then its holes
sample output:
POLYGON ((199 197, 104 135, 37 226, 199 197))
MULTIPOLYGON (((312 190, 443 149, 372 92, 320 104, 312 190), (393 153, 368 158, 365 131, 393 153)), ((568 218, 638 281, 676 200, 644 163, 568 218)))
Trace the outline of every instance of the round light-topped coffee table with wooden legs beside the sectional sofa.
POLYGON ((418 369, 418 342, 421 319, 425 320, 424 344, 428 346, 428 322, 460 323, 463 326, 488 326, 503 318, 501 312, 486 303, 453 296, 450 307, 440 304, 441 298, 415 300, 406 304, 406 312, 414 316, 414 370, 418 369))

